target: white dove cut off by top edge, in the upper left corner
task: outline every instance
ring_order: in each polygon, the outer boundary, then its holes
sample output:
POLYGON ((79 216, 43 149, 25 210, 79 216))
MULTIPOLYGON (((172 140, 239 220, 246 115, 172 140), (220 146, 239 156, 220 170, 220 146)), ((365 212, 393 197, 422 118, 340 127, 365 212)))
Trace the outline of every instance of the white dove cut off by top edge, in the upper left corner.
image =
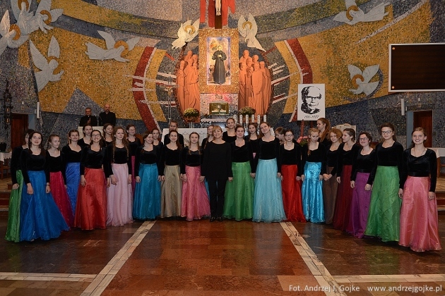
POLYGON ((13 8, 18 26, 28 35, 39 29, 46 34, 47 30, 52 29, 49 24, 55 22, 64 10, 61 8, 51 9, 51 4, 52 0, 41 0, 39 6, 37 6, 37 10, 33 14, 30 12, 28 0, 11 0, 11 7, 13 8), (20 4, 20 7, 18 4, 20 4))

